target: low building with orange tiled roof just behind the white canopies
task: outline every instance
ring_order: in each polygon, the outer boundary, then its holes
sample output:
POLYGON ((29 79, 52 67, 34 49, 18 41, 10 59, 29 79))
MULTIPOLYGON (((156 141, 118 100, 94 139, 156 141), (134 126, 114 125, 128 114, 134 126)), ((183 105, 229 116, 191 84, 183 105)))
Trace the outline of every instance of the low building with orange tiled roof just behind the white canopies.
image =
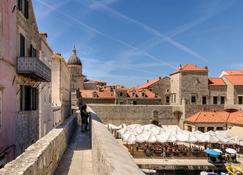
POLYGON ((243 127, 243 111, 198 112, 184 124, 186 130, 201 132, 227 130, 233 126, 243 127))

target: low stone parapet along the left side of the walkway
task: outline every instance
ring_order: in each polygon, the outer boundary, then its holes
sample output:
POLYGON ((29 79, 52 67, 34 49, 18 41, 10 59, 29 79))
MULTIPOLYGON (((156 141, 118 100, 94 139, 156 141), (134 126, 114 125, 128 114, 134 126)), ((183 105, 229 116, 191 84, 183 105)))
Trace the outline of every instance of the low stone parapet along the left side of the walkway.
POLYGON ((0 170, 0 175, 52 175, 67 148, 76 126, 76 117, 69 117, 0 170))

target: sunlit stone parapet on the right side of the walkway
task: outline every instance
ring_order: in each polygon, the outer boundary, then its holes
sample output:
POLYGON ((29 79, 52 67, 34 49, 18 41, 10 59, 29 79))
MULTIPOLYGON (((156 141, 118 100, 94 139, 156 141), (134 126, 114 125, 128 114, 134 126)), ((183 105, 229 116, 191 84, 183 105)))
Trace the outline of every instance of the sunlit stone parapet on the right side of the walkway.
POLYGON ((92 161, 96 175, 143 175, 129 155, 104 124, 92 114, 92 161))

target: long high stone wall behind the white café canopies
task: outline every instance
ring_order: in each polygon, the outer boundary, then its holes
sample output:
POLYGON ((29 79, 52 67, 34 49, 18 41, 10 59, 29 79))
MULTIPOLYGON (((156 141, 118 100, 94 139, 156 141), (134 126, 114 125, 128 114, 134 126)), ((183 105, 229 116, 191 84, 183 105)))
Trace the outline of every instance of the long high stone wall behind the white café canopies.
POLYGON ((183 113, 183 106, 105 104, 89 104, 89 106, 104 123, 115 125, 122 123, 149 124, 153 120, 157 120, 162 125, 178 125, 180 118, 174 112, 183 113))

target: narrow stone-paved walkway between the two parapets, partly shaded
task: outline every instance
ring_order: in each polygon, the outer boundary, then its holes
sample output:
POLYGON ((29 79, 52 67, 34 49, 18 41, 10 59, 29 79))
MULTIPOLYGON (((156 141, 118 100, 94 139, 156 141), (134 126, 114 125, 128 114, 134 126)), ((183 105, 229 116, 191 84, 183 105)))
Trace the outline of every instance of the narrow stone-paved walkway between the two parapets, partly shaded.
POLYGON ((93 175, 90 133, 78 127, 55 175, 93 175))

